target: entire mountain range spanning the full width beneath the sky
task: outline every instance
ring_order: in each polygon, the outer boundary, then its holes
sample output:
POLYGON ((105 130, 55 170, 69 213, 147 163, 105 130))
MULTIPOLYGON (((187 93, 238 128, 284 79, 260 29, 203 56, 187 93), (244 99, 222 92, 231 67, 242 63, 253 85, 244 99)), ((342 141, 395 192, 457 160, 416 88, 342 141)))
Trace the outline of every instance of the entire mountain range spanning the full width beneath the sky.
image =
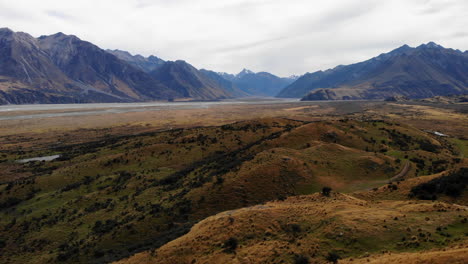
POLYGON ((0 104, 218 100, 276 96, 302 100, 410 99, 468 93, 468 51, 433 42, 301 77, 244 69, 198 70, 156 56, 103 50, 74 35, 35 38, 0 29, 0 104))

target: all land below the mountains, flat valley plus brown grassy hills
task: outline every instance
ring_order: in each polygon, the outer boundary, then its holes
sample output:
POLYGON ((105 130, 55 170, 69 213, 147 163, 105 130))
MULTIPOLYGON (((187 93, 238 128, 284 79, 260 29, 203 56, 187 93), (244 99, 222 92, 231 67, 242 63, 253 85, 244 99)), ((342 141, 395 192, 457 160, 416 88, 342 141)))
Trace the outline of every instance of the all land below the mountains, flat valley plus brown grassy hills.
POLYGON ((466 103, 73 107, 0 108, 1 263, 468 259, 466 103))

